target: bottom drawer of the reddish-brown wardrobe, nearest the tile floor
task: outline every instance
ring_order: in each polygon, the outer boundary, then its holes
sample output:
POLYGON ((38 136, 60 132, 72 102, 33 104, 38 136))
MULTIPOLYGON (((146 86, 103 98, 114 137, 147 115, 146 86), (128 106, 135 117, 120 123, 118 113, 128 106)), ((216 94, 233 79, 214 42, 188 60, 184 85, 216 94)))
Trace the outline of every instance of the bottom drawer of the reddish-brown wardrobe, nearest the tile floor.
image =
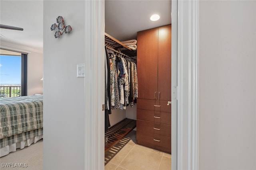
POLYGON ((137 143, 140 145, 171 153, 171 137, 157 135, 137 129, 136 139, 137 143))

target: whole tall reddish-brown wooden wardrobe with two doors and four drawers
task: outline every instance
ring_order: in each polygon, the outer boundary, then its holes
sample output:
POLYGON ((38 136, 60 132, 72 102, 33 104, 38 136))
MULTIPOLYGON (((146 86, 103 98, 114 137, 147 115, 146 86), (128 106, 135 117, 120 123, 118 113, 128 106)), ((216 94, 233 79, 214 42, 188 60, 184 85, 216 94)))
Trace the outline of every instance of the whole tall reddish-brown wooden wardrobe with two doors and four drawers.
POLYGON ((137 143, 171 153, 171 25, 137 34, 137 143))

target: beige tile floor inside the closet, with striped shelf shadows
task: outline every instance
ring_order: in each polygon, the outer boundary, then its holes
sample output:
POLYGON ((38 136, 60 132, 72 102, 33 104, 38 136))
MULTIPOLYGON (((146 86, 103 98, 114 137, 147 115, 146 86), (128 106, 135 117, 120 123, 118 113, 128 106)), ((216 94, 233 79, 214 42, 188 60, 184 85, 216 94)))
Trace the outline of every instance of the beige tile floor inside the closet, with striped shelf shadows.
POLYGON ((171 170, 171 155, 136 144, 136 131, 105 154, 105 170, 171 170))

